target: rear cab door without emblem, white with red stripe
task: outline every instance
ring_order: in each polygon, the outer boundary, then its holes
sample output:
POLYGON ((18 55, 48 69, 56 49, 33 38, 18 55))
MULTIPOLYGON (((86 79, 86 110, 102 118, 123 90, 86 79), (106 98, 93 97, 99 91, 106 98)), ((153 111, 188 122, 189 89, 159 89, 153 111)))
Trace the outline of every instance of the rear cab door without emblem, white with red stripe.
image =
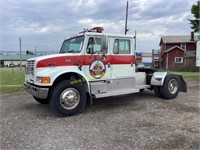
POLYGON ((132 38, 112 37, 109 39, 111 51, 111 78, 135 77, 135 57, 132 38))

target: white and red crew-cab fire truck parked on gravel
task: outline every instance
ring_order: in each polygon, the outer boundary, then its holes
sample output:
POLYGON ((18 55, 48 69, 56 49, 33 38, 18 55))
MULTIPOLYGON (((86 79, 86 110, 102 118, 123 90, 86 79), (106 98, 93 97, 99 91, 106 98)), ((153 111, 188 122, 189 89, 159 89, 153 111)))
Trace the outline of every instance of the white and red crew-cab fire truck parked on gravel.
POLYGON ((181 75, 136 68, 134 38, 102 27, 64 40, 60 53, 27 60, 24 86, 60 116, 80 113, 87 99, 154 90, 163 99, 186 92, 181 75))

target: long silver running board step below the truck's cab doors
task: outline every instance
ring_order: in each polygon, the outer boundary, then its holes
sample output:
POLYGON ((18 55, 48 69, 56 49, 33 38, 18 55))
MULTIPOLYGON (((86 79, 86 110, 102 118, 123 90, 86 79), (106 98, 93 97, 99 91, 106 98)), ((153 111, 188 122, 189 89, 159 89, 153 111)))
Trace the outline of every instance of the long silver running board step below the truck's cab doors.
POLYGON ((109 96, 118 96, 118 95, 125 95, 125 94, 131 94, 131 93, 138 93, 139 89, 126 89, 126 90, 116 90, 108 93, 102 93, 102 94, 94 94, 95 98, 103 98, 103 97, 109 97, 109 96))

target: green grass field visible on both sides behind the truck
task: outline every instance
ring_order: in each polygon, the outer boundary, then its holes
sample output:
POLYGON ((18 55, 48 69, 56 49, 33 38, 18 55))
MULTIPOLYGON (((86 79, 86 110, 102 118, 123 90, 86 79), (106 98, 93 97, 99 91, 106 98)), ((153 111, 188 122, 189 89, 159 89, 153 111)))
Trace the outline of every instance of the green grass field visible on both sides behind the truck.
MULTIPOLYGON (((199 72, 176 72, 182 74, 186 79, 200 77, 199 72)), ((1 93, 11 93, 23 91, 24 87, 24 68, 0 68, 0 91, 1 93)))

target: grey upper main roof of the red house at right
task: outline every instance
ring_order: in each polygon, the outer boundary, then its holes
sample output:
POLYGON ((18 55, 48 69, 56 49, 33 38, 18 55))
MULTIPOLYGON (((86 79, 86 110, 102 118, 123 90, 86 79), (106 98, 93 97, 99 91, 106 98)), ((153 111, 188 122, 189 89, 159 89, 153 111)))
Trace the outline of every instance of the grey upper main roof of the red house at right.
POLYGON ((194 41, 191 41, 191 36, 162 36, 160 44, 162 43, 195 43, 198 40, 198 36, 194 35, 194 41))

